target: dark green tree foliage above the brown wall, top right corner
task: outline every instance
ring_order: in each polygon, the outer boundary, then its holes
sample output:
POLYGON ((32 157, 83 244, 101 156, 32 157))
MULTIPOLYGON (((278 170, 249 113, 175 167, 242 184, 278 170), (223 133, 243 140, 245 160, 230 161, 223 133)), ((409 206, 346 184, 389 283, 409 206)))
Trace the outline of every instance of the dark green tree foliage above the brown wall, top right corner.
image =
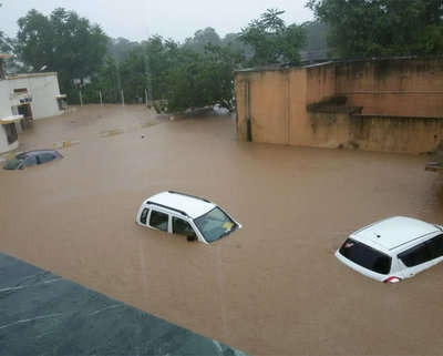
POLYGON ((443 53, 442 0, 310 0, 339 57, 443 53))

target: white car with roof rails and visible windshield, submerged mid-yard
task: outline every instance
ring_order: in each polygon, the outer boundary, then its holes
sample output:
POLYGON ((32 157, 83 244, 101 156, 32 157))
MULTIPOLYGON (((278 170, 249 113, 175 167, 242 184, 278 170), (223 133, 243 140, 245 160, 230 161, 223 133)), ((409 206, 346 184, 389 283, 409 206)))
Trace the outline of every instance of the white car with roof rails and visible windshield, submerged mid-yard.
POLYGON ((241 225, 206 199, 175 191, 145 200, 135 222, 142 226, 187 236, 188 241, 212 243, 241 225))

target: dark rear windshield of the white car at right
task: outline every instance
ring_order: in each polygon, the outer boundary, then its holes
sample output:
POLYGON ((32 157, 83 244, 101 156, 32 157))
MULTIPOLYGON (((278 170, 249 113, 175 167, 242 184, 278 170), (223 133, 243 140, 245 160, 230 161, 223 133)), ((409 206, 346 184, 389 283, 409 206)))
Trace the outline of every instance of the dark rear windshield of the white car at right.
POLYGON ((361 242, 348 238, 340 248, 340 254, 358 265, 380 274, 391 271, 392 258, 361 242))

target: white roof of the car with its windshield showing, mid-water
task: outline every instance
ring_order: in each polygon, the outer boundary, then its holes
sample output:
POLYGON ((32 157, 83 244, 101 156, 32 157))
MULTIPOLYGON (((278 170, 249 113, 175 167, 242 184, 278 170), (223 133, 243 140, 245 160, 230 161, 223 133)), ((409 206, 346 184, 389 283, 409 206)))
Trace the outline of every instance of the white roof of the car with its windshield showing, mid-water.
POLYGON ((196 218, 212 211, 216 205, 205 199, 174 191, 162 192, 146 200, 146 203, 159 204, 196 218))

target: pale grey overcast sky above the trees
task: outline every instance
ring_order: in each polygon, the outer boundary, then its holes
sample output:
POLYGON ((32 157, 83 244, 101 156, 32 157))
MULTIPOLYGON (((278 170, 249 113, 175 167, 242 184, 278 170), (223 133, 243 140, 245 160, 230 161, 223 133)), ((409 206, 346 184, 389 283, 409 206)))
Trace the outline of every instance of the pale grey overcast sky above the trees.
POLYGON ((97 23, 112 37, 141 41, 152 34, 183 42, 194 32, 214 28, 220 37, 239 32, 266 9, 285 10, 287 24, 312 20, 306 0, 0 0, 0 30, 14 37, 17 20, 35 9, 44 14, 55 8, 73 10, 97 23))

